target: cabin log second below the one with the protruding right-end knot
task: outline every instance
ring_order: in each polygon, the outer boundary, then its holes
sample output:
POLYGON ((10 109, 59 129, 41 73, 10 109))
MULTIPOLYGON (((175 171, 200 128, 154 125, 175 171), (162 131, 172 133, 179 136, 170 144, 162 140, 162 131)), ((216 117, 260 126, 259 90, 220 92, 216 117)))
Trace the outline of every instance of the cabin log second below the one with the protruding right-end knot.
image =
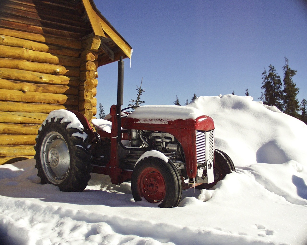
POLYGON ((40 92, 51 94, 78 95, 78 87, 69 87, 67 85, 33 84, 27 82, 18 82, 0 78, 0 89, 19 90, 22 92, 40 92))

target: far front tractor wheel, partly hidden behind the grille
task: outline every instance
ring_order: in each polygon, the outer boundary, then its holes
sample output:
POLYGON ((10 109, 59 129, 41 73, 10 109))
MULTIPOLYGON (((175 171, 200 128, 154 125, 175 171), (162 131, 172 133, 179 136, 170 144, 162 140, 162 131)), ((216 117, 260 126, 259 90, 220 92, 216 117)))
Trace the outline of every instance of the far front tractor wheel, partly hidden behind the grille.
POLYGON ((210 184, 199 185, 197 189, 210 189, 217 182, 225 178, 226 174, 235 171, 235 165, 231 158, 223 151, 214 149, 214 182, 210 184))

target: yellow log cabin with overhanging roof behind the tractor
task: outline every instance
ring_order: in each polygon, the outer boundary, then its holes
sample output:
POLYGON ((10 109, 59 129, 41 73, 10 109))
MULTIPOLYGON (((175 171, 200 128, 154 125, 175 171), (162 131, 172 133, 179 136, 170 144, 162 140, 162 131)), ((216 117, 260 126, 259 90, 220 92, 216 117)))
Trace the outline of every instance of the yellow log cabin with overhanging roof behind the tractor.
POLYGON ((132 48, 93 0, 0 1, 0 165, 32 158, 50 111, 96 114, 97 68, 132 48))

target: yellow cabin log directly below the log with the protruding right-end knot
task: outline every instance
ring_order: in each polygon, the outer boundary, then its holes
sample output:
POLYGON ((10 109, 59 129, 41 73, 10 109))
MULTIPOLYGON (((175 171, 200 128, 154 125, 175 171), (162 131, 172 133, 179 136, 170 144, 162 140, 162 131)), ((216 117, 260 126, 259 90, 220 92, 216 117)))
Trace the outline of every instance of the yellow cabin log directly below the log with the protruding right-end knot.
POLYGON ((31 72, 18 69, 0 68, 0 78, 7 80, 18 80, 39 84, 59 84, 69 86, 79 86, 78 77, 56 76, 41 72, 31 72))

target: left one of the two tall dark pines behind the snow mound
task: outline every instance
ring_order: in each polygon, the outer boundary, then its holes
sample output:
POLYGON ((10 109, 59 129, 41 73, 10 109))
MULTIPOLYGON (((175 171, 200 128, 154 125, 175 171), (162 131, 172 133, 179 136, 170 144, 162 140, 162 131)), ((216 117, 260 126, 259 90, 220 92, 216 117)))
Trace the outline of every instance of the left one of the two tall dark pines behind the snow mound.
POLYGON ((279 110, 283 111, 283 91, 282 91, 282 82, 280 76, 277 75, 276 69, 274 66, 269 65, 269 73, 267 74, 266 68, 262 73, 262 86, 261 89, 264 89, 264 102, 269 106, 276 106, 279 110))

